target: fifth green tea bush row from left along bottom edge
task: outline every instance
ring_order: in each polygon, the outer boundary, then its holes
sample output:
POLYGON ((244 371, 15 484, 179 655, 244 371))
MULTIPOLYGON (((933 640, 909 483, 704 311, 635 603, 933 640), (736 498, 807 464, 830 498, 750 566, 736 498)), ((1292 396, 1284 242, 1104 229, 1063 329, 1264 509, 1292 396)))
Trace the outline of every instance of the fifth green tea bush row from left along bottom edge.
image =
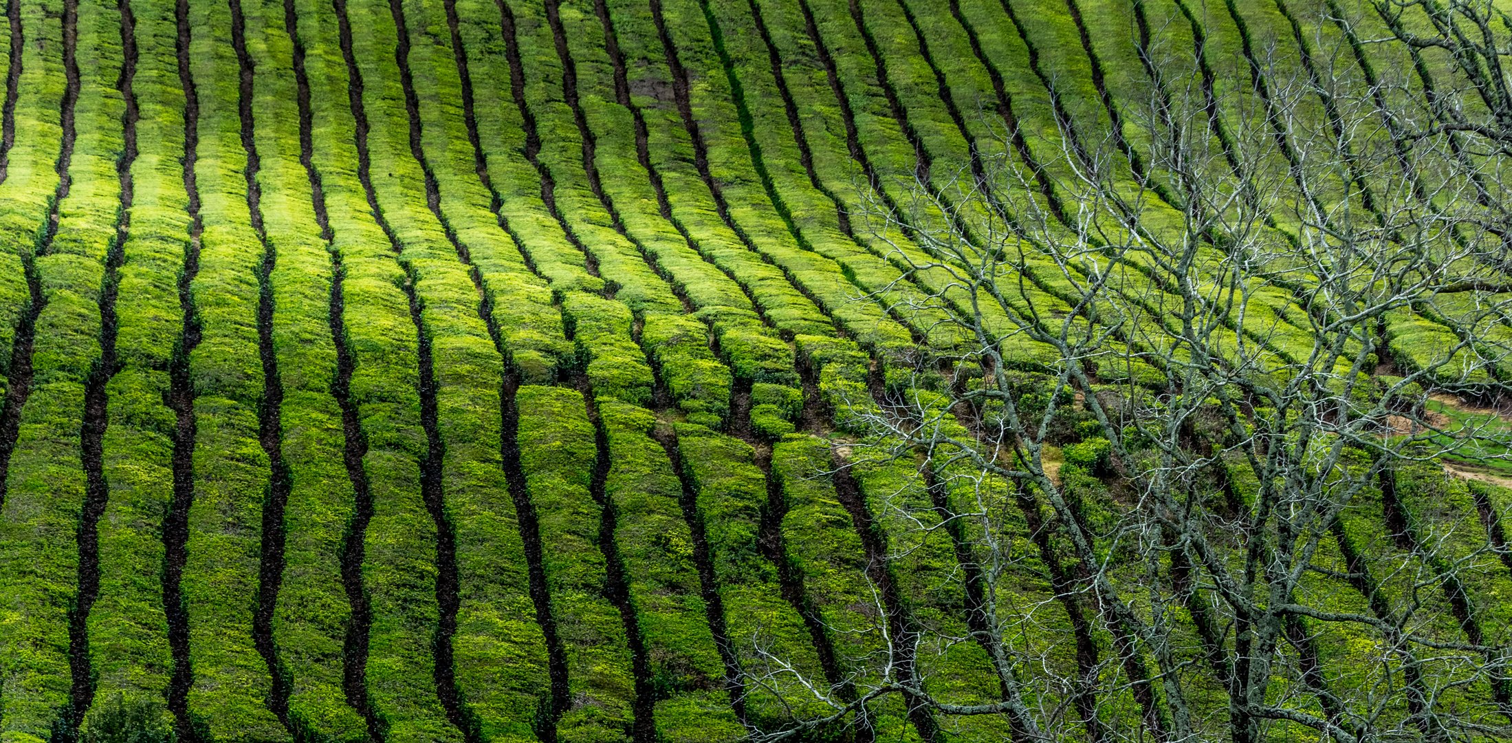
MULTIPOLYGON (((355 362, 351 398, 369 446, 363 468, 373 518, 363 540, 361 580, 372 602, 372 625, 364 682, 389 735, 454 740, 457 734, 445 719, 432 678, 435 527, 419 492, 425 434, 416 390, 416 331, 399 288, 404 271, 369 216, 357 179, 355 124, 336 18, 322 3, 298 3, 298 11, 301 38, 324 51, 307 58, 313 157, 330 210, 331 247, 345 269, 342 322, 355 362)), ((354 30, 372 26, 354 24, 354 30)), ((469 310, 464 307, 458 316, 469 310)))

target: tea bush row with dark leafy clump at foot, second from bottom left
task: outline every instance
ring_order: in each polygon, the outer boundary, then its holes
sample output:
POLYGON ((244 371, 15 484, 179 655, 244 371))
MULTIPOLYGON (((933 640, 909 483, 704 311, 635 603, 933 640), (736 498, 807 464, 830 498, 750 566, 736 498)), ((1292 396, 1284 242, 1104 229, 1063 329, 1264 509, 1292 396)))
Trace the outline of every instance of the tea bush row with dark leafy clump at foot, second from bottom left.
POLYGON ((171 669, 160 570, 162 519, 172 498, 174 413, 163 395, 165 368, 180 333, 175 278, 189 239, 180 163, 184 98, 172 51, 172 8, 133 3, 132 11, 141 53, 133 80, 139 154, 132 163, 132 225, 116 300, 122 368, 106 387, 109 501, 100 519, 100 599, 89 614, 91 663, 100 676, 95 695, 121 696, 129 705, 162 701, 171 669))

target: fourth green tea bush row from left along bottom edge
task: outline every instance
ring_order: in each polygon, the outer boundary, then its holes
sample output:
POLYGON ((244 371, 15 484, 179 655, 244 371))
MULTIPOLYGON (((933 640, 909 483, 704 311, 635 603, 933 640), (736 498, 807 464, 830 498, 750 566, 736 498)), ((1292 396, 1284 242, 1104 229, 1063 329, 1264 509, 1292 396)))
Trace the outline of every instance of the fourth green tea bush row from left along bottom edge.
POLYGON ((281 448, 290 469, 284 507, 284 574, 274 642, 292 679, 295 725, 357 740, 363 720, 342 696, 342 645, 351 607, 342 590, 340 546, 352 511, 342 466, 345 434, 331 384, 336 347, 328 322, 331 262, 299 163, 293 50, 281 3, 243 3, 254 77, 254 135, 262 213, 277 253, 274 353, 284 387, 281 448))

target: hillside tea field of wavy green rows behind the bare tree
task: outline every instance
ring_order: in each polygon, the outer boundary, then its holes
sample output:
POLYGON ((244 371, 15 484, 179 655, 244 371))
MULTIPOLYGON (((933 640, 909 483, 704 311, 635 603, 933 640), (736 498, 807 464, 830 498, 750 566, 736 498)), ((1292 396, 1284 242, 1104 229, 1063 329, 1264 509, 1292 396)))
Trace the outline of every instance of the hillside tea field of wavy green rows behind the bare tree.
MULTIPOLYGON (((1453 85, 1379 24, 1352 0, 6 0, 0 741, 1027 740, 907 690, 801 725, 881 657, 940 699, 1001 701, 983 611, 1067 678, 1131 678, 1089 699, 1021 664, 1031 707, 1101 717, 1093 743, 1179 740, 1149 732, 1170 699, 1048 511, 1002 493, 1019 558, 984 598, 940 519, 956 495, 909 490, 910 462, 839 468, 857 404, 978 342, 931 300, 950 272, 910 268, 924 239, 862 215, 904 219, 916 176, 993 145, 1069 168, 1111 138, 1175 188, 1126 121, 1158 76, 1140 29, 1210 73, 1161 85, 1232 92, 1219 123, 1272 103, 1246 54, 1453 85), (1356 56, 1311 54, 1346 35, 1356 56), (918 543, 900 490, 936 498, 918 543)), ((1326 97, 1291 104, 1329 121, 1326 97)), ((1285 141, 1249 145, 1285 173, 1285 141)), ((1057 183, 995 209, 1060 203, 1057 183)), ((1074 304, 1045 277, 1013 291, 1074 304)), ((1270 322, 1267 353, 1305 359, 1306 292, 1229 337, 1270 322)), ((1394 374, 1455 342, 1399 319, 1394 374)), ((1018 344, 1033 383, 1055 354, 1018 344)), ((1099 440, 1063 442, 1061 477, 1114 478, 1099 440)), ((1433 462, 1391 478, 1332 527, 1311 590, 1382 623, 1380 595, 1417 592, 1441 608, 1423 631, 1506 648, 1512 490, 1433 462), (1448 569, 1411 539, 1429 521, 1500 561, 1423 578, 1448 569)), ((1228 630, 1201 601, 1164 620, 1207 679, 1181 714, 1228 740, 1201 651, 1228 630)), ((1297 640, 1334 679, 1320 710, 1353 699, 1356 640, 1297 640)), ((1444 693, 1512 705, 1503 676, 1444 693)))

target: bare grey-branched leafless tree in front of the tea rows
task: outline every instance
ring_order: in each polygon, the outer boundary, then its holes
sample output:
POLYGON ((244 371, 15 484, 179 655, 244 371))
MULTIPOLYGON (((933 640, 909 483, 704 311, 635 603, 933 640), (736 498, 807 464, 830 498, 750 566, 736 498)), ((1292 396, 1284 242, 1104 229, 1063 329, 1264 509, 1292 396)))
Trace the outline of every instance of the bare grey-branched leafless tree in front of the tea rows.
POLYGON ((1146 29, 1120 101, 1139 166, 1105 126, 1025 139, 987 110, 971 166, 865 191, 853 218, 963 342, 869 380, 816 362, 845 427, 830 475, 871 483, 874 586, 948 539, 959 616, 878 619, 854 693, 812 684, 826 716, 765 737, 889 698, 1025 741, 1512 735, 1506 515, 1441 469, 1512 440, 1430 399, 1512 378, 1512 24, 1489 2, 1329 9, 1287 39, 1308 65, 1249 39, 1231 98, 1146 29), (1453 65, 1361 74, 1376 45, 1453 65), (931 663, 962 648, 990 698, 931 663))

